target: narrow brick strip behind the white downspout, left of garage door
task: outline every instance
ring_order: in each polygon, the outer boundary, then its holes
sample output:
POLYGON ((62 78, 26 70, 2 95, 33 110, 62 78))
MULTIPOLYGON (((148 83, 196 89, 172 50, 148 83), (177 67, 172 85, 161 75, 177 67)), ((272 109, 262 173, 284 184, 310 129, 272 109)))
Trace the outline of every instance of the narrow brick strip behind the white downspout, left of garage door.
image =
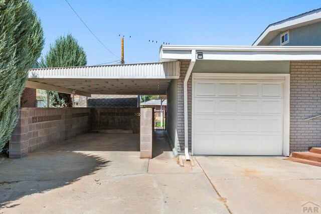
MULTIPOLYGON (((178 126, 178 152, 184 152, 184 78, 190 65, 190 60, 180 60, 181 72, 178 79, 177 96, 177 126, 178 126)), ((188 120, 189 120, 189 151, 192 151, 192 74, 188 81, 188 120)))

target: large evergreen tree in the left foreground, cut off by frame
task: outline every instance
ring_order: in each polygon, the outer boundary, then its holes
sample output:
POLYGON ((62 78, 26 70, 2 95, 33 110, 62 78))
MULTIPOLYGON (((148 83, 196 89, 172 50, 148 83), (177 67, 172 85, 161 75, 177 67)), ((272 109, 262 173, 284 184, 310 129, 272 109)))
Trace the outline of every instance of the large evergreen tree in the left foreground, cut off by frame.
POLYGON ((0 0, 0 151, 17 124, 18 97, 43 46, 33 6, 26 0, 0 0))

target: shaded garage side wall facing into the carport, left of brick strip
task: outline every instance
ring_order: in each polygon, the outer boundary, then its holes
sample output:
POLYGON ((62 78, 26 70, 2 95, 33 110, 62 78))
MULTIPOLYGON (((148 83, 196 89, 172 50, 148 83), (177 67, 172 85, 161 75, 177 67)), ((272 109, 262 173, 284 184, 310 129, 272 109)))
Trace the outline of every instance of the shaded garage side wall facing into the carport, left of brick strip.
POLYGON ((177 151, 178 146, 178 109, 177 109, 177 97, 178 97, 178 80, 174 79, 171 81, 167 89, 167 115, 166 115, 166 131, 169 136, 169 141, 172 148, 177 151))

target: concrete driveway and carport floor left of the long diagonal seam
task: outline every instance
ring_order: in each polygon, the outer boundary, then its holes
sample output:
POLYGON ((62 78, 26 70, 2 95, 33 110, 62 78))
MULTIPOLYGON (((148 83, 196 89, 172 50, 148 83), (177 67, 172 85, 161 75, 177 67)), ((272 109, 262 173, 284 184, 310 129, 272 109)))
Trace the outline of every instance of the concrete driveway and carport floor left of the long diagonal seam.
POLYGON ((155 134, 154 146, 153 159, 140 159, 138 134, 88 133, 5 159, 0 211, 227 213, 200 169, 177 164, 164 132, 155 134))

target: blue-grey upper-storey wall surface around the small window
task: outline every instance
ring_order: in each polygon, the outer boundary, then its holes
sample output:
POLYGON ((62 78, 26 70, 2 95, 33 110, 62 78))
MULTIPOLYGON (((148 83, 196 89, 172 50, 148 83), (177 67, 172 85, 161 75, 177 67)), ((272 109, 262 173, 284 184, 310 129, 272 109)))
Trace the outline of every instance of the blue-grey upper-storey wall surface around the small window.
MULTIPOLYGON (((284 31, 286 32, 286 31, 284 31)), ((268 46, 280 46, 279 33, 268 46)), ((321 22, 289 30, 289 42, 283 46, 321 46, 321 22)))

